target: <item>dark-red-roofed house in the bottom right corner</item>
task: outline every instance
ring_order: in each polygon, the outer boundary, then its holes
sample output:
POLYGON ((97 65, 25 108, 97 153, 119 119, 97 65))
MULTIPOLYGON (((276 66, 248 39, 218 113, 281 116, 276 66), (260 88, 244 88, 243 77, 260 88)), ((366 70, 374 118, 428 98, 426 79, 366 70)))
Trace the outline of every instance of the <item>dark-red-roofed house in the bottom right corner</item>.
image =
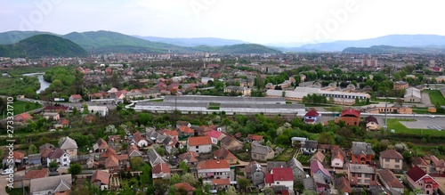
POLYGON ((430 175, 427 175, 420 167, 413 167, 407 172, 409 187, 420 189, 424 194, 437 194, 439 183, 430 175))

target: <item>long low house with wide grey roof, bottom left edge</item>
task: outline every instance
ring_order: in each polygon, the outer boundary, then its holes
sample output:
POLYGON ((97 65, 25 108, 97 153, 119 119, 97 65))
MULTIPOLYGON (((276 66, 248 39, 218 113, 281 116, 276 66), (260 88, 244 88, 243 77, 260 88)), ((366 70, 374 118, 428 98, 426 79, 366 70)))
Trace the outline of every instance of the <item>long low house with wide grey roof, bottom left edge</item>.
POLYGON ((31 179, 29 181, 29 194, 57 194, 69 195, 71 193, 72 176, 57 175, 31 179))

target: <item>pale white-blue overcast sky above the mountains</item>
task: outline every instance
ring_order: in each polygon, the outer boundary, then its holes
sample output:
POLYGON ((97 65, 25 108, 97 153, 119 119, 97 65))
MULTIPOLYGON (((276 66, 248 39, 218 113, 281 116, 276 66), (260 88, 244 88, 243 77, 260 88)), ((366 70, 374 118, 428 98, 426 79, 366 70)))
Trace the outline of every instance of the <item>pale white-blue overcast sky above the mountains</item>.
POLYGON ((0 32, 109 30, 256 44, 445 36, 441 0, 0 0, 0 5, 0 32))

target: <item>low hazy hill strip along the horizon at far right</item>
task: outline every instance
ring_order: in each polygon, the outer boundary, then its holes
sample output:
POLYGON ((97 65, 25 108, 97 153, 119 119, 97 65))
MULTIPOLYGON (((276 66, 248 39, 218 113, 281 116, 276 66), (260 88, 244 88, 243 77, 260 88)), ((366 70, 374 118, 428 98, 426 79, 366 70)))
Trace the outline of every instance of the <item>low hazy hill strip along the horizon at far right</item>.
POLYGON ((389 45, 376 45, 371 47, 348 47, 343 50, 344 53, 365 53, 365 54, 382 54, 382 53, 443 53, 445 46, 435 47, 401 47, 389 45))

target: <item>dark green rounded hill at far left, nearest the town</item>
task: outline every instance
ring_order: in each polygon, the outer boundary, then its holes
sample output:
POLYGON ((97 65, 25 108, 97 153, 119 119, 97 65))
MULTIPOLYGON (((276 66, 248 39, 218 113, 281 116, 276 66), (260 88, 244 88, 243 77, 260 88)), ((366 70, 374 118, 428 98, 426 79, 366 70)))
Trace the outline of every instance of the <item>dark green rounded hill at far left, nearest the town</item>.
POLYGON ((12 45, 0 45, 4 57, 86 57, 86 51, 68 39, 53 35, 36 35, 12 45))

